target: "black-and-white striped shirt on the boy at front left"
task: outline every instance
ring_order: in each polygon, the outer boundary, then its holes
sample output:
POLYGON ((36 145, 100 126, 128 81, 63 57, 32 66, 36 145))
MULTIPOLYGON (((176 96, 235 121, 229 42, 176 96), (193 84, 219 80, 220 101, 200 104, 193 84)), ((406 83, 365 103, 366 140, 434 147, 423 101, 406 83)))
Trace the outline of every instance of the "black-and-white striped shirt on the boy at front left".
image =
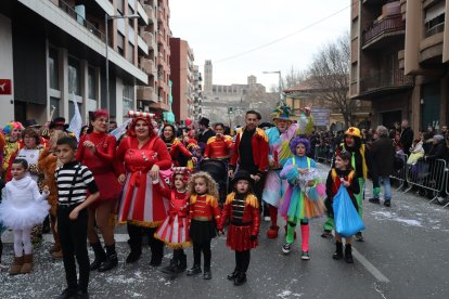
POLYGON ((63 165, 54 174, 60 205, 80 204, 86 200, 88 190, 90 193, 99 191, 92 172, 79 161, 63 165))

